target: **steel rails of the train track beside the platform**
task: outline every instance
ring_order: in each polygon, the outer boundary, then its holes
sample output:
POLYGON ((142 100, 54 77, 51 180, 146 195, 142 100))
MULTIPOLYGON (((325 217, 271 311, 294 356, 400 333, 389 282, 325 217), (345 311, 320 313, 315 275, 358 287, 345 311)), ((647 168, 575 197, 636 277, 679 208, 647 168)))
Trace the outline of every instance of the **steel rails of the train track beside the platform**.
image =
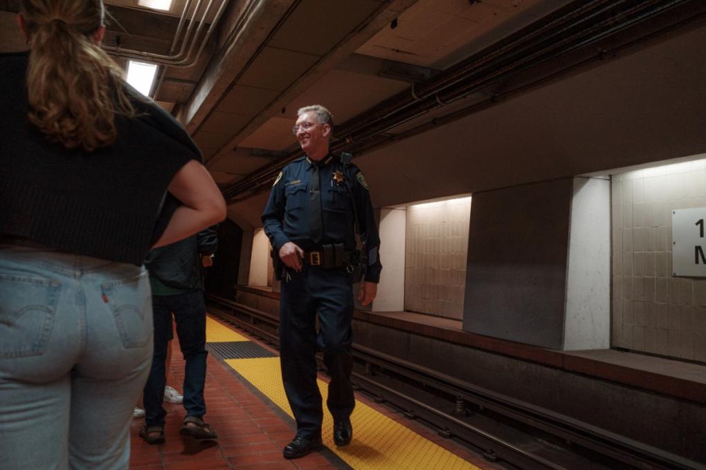
MULTIPOLYGON (((239 324, 241 328, 251 330, 256 336, 265 338, 274 345, 279 345, 277 334, 271 331, 272 328, 277 328, 278 326, 278 321, 273 316, 264 314, 261 311, 252 309, 243 304, 223 299, 222 297, 207 295, 207 299, 228 310, 227 312, 217 311, 216 313, 229 316, 227 320, 239 324), (251 321, 234 318, 236 312, 250 317, 251 321), (258 327, 255 319, 267 323, 270 326, 270 330, 258 327)), ((649 466, 651 469, 706 469, 706 466, 700 466, 700 464, 678 455, 642 443, 637 443, 633 440, 628 440, 623 436, 615 435, 600 428, 596 428, 595 426, 570 419, 568 416, 556 414, 540 407, 534 407, 520 400, 515 400, 484 388, 479 388, 457 378, 446 376, 438 371, 412 364, 404 359, 392 357, 368 347, 353 345, 353 352, 357 360, 363 361, 366 364, 366 372, 370 369, 369 364, 375 364, 381 370, 392 371, 416 383, 424 384, 427 387, 431 386, 433 390, 456 397, 456 400, 475 404, 480 408, 490 409, 502 416, 507 416, 527 426, 531 426, 532 428, 539 429, 551 435, 556 435, 562 440, 575 443, 593 452, 597 452, 598 454, 605 455, 631 466, 638 468, 647 468, 647 466, 649 466)), ((318 361, 319 364, 323 364, 322 357, 318 357, 318 361)), ((561 468, 551 462, 547 462, 546 459, 542 459, 542 457, 525 452, 510 443, 505 443, 495 436, 489 438, 485 431, 457 419, 455 416, 451 416, 428 404, 420 402, 414 397, 409 397, 405 393, 394 390, 379 381, 375 381, 368 373, 361 374, 354 372, 353 375, 360 381, 368 383, 369 388, 372 388, 376 392, 382 391, 385 392, 385 394, 392 395, 394 398, 394 400, 390 400, 390 397, 385 397, 385 400, 393 402, 403 409, 409 409, 409 406, 412 406, 415 413, 421 411, 421 414, 426 415, 424 416, 426 421, 433 423, 439 428, 454 428, 453 433, 455 435, 486 450, 486 453, 491 455, 497 454, 498 457, 510 463, 520 465, 522 468, 527 468, 527 465, 530 464, 532 468, 555 470, 561 468), (402 403, 401 405, 400 402, 402 403)), ((376 394, 379 395, 379 393, 376 394)))

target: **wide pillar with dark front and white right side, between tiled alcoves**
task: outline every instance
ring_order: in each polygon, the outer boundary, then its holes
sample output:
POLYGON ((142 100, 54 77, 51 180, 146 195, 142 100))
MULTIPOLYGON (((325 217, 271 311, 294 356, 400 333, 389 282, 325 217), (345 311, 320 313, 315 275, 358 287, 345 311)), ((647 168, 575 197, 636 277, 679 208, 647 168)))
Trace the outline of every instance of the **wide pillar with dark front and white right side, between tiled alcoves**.
POLYGON ((473 194, 463 329, 555 350, 609 345, 610 184, 473 194))

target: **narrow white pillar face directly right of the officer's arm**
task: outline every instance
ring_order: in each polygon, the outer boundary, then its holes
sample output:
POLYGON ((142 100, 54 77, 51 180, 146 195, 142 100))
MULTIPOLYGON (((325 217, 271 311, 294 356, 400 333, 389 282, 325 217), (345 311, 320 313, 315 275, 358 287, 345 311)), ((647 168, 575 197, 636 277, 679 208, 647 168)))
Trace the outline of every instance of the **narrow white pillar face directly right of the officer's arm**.
POLYGON ((373 311, 405 309, 405 233, 407 211, 380 210, 380 260, 383 271, 373 311))

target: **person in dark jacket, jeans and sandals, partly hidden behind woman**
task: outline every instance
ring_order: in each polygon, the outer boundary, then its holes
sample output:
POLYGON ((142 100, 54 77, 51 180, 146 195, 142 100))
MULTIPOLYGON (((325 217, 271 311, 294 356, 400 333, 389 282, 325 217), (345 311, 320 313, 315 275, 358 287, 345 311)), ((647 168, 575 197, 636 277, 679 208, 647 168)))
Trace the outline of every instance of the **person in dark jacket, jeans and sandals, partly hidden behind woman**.
POLYGON ((152 369, 143 391, 145 426, 140 436, 150 444, 164 442, 162 406, 167 384, 165 359, 172 339, 172 312, 177 323, 181 353, 186 361, 184 373, 184 409, 186 418, 181 433, 197 439, 215 439, 213 428, 203 422, 206 404, 203 387, 206 380, 206 311, 203 301, 203 267, 210 266, 211 255, 218 247, 213 228, 202 230, 181 242, 153 249, 145 260, 152 285, 155 350, 152 369))

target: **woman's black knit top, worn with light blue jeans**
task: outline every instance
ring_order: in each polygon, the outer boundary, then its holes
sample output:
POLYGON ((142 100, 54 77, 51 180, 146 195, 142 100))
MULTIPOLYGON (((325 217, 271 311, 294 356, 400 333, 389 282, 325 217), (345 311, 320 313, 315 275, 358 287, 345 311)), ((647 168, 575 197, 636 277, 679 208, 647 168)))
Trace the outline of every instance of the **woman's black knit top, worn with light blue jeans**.
POLYGON ((140 99, 136 118, 116 117, 109 147, 49 142, 27 117, 27 62, 26 52, 0 54, 0 239, 143 264, 178 205, 169 182, 189 160, 201 161, 196 144, 169 113, 140 99))

